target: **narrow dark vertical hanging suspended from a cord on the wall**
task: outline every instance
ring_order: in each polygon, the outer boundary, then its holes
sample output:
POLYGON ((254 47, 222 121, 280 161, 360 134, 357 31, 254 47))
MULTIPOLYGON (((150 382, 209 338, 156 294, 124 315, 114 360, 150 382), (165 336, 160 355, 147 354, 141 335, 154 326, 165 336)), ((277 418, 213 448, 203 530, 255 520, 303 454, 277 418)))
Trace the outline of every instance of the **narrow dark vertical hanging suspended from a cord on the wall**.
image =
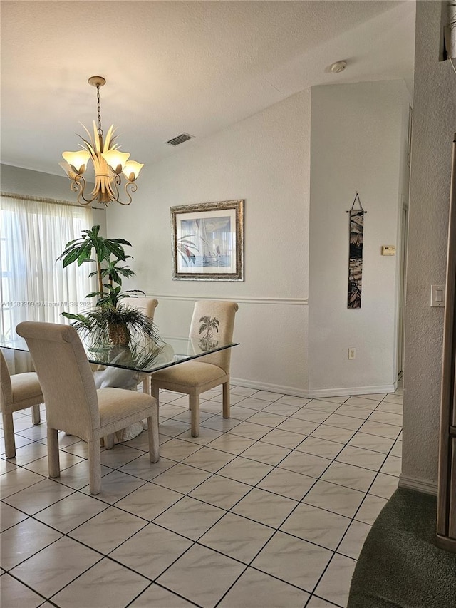
POLYGON ((361 200, 356 192, 350 214, 350 254, 348 260, 348 308, 361 308, 361 286, 363 283, 363 230, 364 214, 361 200), (359 209, 355 209, 358 201, 359 209))

